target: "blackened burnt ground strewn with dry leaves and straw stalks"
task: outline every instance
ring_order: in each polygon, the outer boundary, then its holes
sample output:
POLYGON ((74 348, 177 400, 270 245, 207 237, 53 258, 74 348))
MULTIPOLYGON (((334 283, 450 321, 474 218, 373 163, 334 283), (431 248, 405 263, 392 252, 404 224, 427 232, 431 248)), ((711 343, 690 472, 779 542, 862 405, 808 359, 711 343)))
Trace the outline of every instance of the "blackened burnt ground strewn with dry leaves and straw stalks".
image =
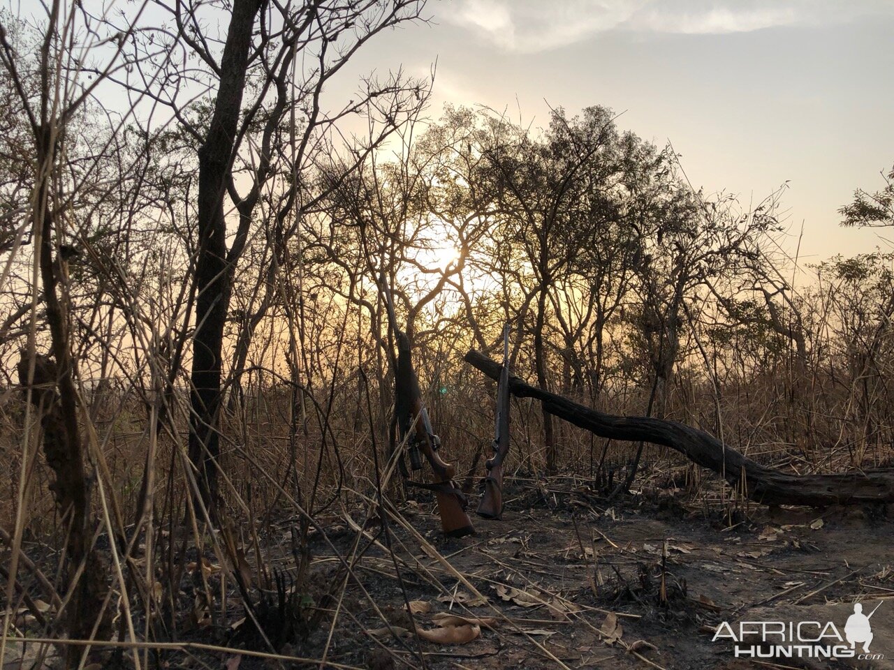
MULTIPOLYGON (((284 608, 268 593, 269 636, 278 638, 285 656, 325 654, 331 664, 376 670, 419 667, 420 649, 426 666, 438 669, 894 667, 889 510, 752 505, 736 511, 730 523, 721 505, 679 490, 637 491, 608 503, 580 482, 560 478, 507 482, 506 492, 502 521, 473 517, 477 534, 459 540, 441 537, 434 503, 424 496, 403 503, 389 524, 394 557, 377 518, 367 521, 359 538, 352 530, 353 523, 364 523, 363 509, 330 516, 322 532, 310 535, 308 592, 284 608), (401 520, 417 532, 401 527, 401 520), (337 554, 354 557, 354 576, 344 588, 337 554), (473 590, 486 602, 477 601, 473 590), (332 599, 323 595, 327 591, 332 599), (445 612, 485 621, 472 641, 418 641, 409 632, 408 600, 422 610, 414 617, 423 631, 436 630, 437 615, 445 612), (740 621, 831 621, 843 635, 856 600, 867 614, 881 603, 872 619, 871 650, 884 658, 755 662, 736 659, 730 641, 712 641, 723 621, 734 628, 740 621), (301 622, 314 613, 321 622, 305 631, 301 622), (283 631, 286 621, 291 623, 283 631)), ((265 567, 268 573, 285 571, 291 580, 290 530, 288 522, 275 526, 271 535, 278 534, 283 550, 265 567)), ((248 558, 257 574, 250 552, 248 558)), ((184 578, 181 595, 189 603, 194 594, 187 582, 197 581, 184 578)), ((216 571, 209 582, 220 592, 216 571)), ((227 618, 213 624, 190 626, 195 612, 181 613, 181 641, 264 649, 247 634, 247 624, 235 624, 244 616, 238 593, 230 590, 229 600, 227 618)), ((228 670, 276 666, 270 659, 206 649, 172 653, 164 663, 228 670)))

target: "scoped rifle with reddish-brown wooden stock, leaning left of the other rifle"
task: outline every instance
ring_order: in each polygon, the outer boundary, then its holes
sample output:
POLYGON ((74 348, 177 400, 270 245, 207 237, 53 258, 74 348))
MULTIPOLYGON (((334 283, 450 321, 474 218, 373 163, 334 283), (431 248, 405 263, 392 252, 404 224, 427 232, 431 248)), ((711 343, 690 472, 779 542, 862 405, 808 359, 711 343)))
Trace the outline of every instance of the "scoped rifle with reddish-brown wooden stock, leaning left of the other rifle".
POLYGON ((466 497, 452 481, 456 476, 456 468, 450 463, 444 463, 437 454, 441 440, 434 434, 432 424, 428 419, 428 412, 422 406, 422 393, 419 390, 416 371, 413 369, 409 338, 397 326, 391 292, 384 281, 384 275, 380 277, 379 283, 388 307, 388 322, 391 324, 398 347, 397 365, 394 373, 394 417, 397 422, 398 435, 401 444, 404 440, 407 441, 410 467, 413 470, 421 470, 422 456, 425 456, 428 465, 432 468, 433 482, 410 481, 402 461, 401 473, 407 476, 407 483, 410 486, 434 491, 444 535, 459 538, 474 532, 472 521, 466 514, 466 497))

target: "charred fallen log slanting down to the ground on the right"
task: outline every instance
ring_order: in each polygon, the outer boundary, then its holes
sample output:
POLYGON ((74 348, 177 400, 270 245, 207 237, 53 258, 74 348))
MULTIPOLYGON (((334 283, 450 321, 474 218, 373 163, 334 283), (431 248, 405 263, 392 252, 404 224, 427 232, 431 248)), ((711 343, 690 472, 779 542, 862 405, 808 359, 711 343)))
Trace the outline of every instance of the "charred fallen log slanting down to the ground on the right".
MULTIPOLYGON (((470 350, 468 364, 493 380, 500 376, 500 364, 470 350)), ((576 402, 531 386, 519 377, 510 377, 510 393, 518 398, 535 398, 554 416, 611 440, 650 442, 670 447, 698 465, 713 470, 739 486, 744 482, 748 498, 765 505, 853 505, 894 502, 894 469, 836 474, 783 473, 761 465, 727 447, 713 435, 687 426, 648 416, 615 416, 597 412, 576 402)))

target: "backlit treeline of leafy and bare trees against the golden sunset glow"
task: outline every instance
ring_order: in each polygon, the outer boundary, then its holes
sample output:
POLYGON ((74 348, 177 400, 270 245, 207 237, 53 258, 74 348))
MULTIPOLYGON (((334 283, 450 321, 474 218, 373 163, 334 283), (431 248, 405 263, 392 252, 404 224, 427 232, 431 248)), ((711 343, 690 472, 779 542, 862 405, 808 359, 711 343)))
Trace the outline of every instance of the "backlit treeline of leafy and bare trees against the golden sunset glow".
MULTIPOLYGON (((170 128, 123 129, 114 147, 134 157, 131 172, 110 176, 95 205, 85 194, 86 214, 59 237, 72 357, 97 408, 114 387, 149 412, 156 384, 166 415, 191 388, 199 169, 176 140, 170 128)), ((468 398, 461 355, 493 348, 508 322, 514 369, 587 404, 680 418, 817 465, 835 448, 856 465, 865 448, 890 444, 890 255, 795 268, 782 191, 752 210, 706 195, 670 147, 620 130, 611 110, 556 110, 544 130, 488 110, 448 108, 426 123, 414 114, 362 160, 302 172, 305 206, 282 170, 270 169, 250 218, 243 200, 226 204, 240 250, 226 265, 224 422, 246 421, 259 388, 290 384, 301 431, 316 423, 308 402, 356 415, 365 365, 384 385, 376 421, 387 423, 384 272, 433 402, 468 398)), ((243 179, 235 166, 231 179, 243 179)), ((16 249, 19 272, 7 277, 10 385, 27 341, 29 248, 16 249)), ((40 316, 38 349, 48 344, 40 316)), ((556 445, 569 436, 548 416, 537 423, 537 464, 560 468, 556 445)))

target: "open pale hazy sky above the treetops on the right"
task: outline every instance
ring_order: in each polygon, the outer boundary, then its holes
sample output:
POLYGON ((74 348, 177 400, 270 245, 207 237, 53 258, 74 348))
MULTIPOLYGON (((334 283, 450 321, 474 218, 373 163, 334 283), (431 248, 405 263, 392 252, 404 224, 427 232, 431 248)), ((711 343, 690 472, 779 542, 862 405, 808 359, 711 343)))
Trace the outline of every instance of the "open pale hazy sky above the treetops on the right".
POLYGON ((803 261, 886 246, 840 229, 838 208, 894 163, 894 0, 452 0, 427 13, 349 76, 436 59, 432 117, 481 104, 542 126, 548 105, 606 105, 620 128, 671 140, 696 187, 747 204, 788 180, 803 261))

